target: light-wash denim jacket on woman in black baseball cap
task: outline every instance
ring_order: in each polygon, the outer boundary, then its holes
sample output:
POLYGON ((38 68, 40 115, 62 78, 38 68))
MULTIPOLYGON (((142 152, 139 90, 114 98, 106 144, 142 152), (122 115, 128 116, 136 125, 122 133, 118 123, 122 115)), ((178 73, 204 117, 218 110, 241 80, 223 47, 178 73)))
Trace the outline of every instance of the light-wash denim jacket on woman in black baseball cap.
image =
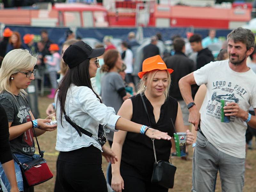
POLYGON ((71 85, 66 96, 65 111, 74 123, 93 134, 92 137, 85 134, 80 137, 76 129, 65 120, 63 113, 61 114, 61 124, 60 102, 59 100, 57 101, 57 96, 58 92, 55 96, 57 118, 56 150, 72 151, 82 147, 89 147, 90 145, 101 150, 101 145, 93 137, 98 138, 99 124, 103 125, 105 132, 110 130, 117 131, 115 126, 120 116, 116 115, 114 108, 100 103, 100 100, 89 87, 71 85))

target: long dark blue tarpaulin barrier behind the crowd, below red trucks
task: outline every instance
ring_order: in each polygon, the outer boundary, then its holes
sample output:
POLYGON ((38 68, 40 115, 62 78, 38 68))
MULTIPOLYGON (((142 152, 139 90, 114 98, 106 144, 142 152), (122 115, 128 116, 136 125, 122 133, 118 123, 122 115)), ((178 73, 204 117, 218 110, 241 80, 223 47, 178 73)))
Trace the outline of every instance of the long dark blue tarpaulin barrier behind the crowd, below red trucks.
MULTIPOLYGON (((65 32, 68 28, 51 28, 51 27, 29 27, 29 26, 6 26, 9 27, 12 31, 19 31, 21 37, 25 34, 30 33, 34 35, 40 35, 41 29, 46 29, 49 34, 49 39, 53 42, 58 43, 61 37, 65 36, 65 32)), ((102 42, 104 36, 112 36, 113 38, 120 38, 127 40, 129 32, 137 32, 137 28, 77 28, 76 36, 82 38, 91 37, 96 38, 102 42)), ((143 37, 150 37, 156 35, 160 32, 162 34, 163 41, 170 40, 173 35, 180 35, 186 37, 187 32, 199 33, 202 37, 208 35, 209 29, 192 29, 192 28, 143 28, 143 37)), ((224 36, 226 37, 231 30, 216 30, 216 37, 224 36)))

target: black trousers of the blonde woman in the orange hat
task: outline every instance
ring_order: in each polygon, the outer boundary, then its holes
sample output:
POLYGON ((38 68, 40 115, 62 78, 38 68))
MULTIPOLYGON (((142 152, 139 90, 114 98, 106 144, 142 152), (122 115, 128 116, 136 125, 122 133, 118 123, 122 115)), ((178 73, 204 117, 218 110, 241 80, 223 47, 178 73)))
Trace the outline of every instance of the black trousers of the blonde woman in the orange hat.
POLYGON ((122 192, 168 192, 167 188, 152 184, 150 175, 142 176, 136 168, 124 162, 121 162, 120 172, 124 180, 124 190, 122 192))

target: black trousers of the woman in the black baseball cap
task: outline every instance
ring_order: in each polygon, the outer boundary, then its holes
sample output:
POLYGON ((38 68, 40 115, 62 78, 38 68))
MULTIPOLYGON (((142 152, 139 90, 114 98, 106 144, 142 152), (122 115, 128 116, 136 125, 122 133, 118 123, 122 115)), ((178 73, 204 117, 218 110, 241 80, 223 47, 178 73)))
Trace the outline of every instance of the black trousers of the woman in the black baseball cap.
POLYGON ((59 181, 64 192, 107 192, 101 151, 92 145, 69 152, 60 152, 59 181))

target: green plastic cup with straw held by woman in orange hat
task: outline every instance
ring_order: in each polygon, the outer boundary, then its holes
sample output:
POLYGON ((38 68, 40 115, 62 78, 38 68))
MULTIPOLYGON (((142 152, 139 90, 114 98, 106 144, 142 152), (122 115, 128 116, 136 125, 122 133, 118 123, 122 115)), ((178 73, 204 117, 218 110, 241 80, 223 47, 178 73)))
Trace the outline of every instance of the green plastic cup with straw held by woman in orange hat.
POLYGON ((178 132, 174 133, 173 136, 176 148, 176 155, 178 157, 186 156, 186 133, 178 132))

